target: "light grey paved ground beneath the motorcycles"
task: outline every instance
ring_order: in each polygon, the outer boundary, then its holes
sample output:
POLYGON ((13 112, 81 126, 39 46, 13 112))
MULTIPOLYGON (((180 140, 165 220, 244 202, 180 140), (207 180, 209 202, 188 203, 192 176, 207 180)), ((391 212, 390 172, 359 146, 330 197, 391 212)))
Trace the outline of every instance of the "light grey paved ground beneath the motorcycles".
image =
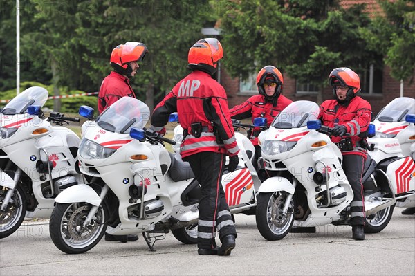
POLYGON ((199 256, 172 234, 149 252, 143 239, 100 241, 82 255, 66 255, 50 241, 48 221, 26 221, 0 240, 0 275, 415 275, 415 215, 396 208, 389 226, 365 241, 349 226, 266 241, 255 217, 237 214, 237 248, 230 256, 199 256))

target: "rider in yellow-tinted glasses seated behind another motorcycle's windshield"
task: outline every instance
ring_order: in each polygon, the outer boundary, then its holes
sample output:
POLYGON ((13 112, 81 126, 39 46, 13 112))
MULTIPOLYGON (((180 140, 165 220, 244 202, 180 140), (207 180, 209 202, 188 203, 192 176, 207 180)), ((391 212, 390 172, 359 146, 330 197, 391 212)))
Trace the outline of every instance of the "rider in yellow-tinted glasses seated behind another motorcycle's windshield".
MULTIPOLYGON (((274 118, 293 102, 282 94, 284 79, 282 73, 275 66, 268 65, 262 68, 257 75, 259 95, 253 95, 248 100, 230 109, 232 119, 241 120, 252 117, 267 118, 268 127, 274 118)), ((261 146, 258 145, 258 135, 261 130, 256 127, 252 133, 251 142, 255 146, 255 169, 258 169, 257 160, 261 157, 261 146)))

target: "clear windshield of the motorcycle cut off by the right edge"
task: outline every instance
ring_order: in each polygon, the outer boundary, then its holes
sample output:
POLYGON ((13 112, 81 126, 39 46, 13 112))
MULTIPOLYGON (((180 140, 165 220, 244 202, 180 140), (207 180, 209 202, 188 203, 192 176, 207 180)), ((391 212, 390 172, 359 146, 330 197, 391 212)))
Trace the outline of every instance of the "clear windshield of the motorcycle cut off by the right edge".
POLYGON ((389 102, 376 119, 380 122, 400 122, 405 120, 407 114, 415 114, 415 99, 401 97, 389 102))

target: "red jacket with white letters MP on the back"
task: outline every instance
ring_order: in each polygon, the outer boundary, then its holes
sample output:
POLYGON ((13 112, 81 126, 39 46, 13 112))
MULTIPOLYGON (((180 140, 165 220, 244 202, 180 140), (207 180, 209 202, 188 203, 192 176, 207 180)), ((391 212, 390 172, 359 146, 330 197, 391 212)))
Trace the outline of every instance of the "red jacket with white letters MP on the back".
POLYGON ((151 125, 163 127, 167 124, 169 114, 175 111, 183 129, 190 132, 181 144, 183 158, 201 151, 228 153, 230 156, 238 153, 225 89, 208 73, 193 71, 178 82, 157 104, 151 116, 151 125), (190 125, 195 122, 201 122, 204 127, 199 138, 191 134, 190 125), (223 140, 223 145, 216 142, 214 128, 223 140))

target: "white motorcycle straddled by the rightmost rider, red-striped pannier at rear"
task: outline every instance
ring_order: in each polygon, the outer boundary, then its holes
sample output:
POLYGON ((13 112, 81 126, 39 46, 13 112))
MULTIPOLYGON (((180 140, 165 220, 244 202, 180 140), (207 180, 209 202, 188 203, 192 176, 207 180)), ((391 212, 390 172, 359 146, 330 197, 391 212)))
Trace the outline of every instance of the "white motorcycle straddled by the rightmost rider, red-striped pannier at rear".
MULTIPOLYGON (((282 239, 293 227, 349 224, 353 191, 342 169, 341 151, 330 140, 331 129, 315 120, 318 113, 315 102, 293 102, 259 135, 259 163, 271 176, 257 196, 257 227, 265 239, 282 239)), ((409 157, 385 156, 376 162, 367 158, 362 179, 365 232, 387 226, 396 196, 415 190, 414 169, 409 157)))

